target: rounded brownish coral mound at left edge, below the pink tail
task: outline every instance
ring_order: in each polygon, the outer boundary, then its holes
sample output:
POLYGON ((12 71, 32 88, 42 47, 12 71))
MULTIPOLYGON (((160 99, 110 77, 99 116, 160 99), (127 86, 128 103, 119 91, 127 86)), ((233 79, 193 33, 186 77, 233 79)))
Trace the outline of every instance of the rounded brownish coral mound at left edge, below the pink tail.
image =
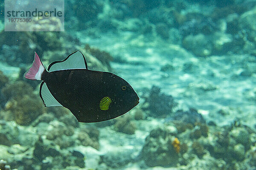
POLYGON ((39 115, 45 112, 41 99, 32 92, 32 87, 26 82, 15 81, 7 83, 1 89, 1 94, 5 99, 4 110, 6 111, 2 116, 6 119, 14 119, 19 125, 32 123, 39 115))

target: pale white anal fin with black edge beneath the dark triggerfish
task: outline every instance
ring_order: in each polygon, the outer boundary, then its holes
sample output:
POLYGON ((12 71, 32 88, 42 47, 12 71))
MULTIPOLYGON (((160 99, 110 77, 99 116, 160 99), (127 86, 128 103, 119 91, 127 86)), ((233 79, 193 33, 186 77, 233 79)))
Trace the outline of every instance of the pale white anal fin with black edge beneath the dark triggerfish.
POLYGON ((40 86, 40 97, 44 102, 45 107, 50 106, 62 106, 51 94, 45 82, 42 82, 40 86))

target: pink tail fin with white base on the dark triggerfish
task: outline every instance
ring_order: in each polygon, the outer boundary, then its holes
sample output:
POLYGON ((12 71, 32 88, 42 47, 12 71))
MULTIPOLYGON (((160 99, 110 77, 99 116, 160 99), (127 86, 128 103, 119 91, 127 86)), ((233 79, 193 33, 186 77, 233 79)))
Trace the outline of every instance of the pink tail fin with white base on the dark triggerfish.
POLYGON ((29 71, 25 73, 24 77, 31 80, 41 80, 41 75, 44 72, 45 68, 38 54, 35 52, 35 59, 32 63, 32 66, 29 68, 29 71))

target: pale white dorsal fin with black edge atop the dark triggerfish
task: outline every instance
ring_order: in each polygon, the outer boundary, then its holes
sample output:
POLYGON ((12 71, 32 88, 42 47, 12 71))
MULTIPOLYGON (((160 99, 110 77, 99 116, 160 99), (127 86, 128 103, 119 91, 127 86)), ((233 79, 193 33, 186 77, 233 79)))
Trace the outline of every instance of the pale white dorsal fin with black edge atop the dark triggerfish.
POLYGON ((57 71, 57 70, 78 69, 78 68, 87 69, 87 63, 85 61, 84 55, 80 51, 76 51, 70 54, 63 61, 52 62, 48 67, 48 71, 51 72, 51 71, 57 71))

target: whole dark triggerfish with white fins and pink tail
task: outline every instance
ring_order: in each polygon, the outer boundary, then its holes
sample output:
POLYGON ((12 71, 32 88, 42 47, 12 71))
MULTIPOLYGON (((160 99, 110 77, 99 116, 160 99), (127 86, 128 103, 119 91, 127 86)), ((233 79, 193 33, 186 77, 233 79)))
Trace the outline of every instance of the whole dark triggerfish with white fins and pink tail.
POLYGON ((121 116, 139 103, 134 89, 121 77, 87 68, 80 51, 44 68, 38 54, 26 79, 43 80, 40 97, 45 107, 64 106, 79 122, 101 122, 121 116))

